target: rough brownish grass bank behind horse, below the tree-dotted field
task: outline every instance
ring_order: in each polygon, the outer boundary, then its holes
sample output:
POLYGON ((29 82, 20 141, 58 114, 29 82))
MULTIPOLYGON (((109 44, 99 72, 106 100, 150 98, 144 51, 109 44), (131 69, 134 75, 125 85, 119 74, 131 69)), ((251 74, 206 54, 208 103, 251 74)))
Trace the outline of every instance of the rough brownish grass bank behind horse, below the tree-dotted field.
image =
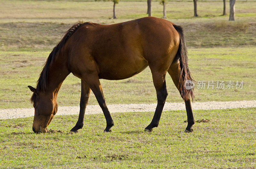
MULTIPOLYGON (((119 20, 118 20, 119 21, 119 20)), ((176 23, 183 26, 189 48, 248 47, 256 45, 256 22, 176 23)), ((71 24, 0 23, 1 51, 49 51, 71 24)))

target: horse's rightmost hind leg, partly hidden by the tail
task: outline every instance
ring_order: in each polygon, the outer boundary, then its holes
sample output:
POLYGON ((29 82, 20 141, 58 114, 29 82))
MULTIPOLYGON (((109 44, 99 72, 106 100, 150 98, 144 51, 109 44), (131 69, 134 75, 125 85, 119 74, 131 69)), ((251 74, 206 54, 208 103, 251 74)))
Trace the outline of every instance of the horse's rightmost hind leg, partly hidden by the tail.
POLYGON ((187 117, 188 117, 188 126, 187 126, 185 132, 193 132, 192 127, 193 127, 193 124, 195 123, 195 119, 193 116, 190 99, 188 97, 187 98, 183 97, 183 94, 181 92, 181 90, 182 90, 181 86, 183 85, 183 82, 180 81, 180 73, 181 73, 180 61, 173 62, 171 64, 170 68, 168 69, 168 73, 172 77, 172 81, 173 81, 174 85, 179 90, 180 95, 185 102, 187 117))

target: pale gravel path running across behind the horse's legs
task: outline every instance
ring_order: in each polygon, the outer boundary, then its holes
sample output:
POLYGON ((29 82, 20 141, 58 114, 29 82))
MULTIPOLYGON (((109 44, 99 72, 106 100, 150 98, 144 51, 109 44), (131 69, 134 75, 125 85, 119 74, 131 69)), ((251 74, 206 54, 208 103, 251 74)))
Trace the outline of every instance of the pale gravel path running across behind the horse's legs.
MULTIPOLYGON (((256 107, 256 100, 241 100, 241 101, 208 101, 195 102, 192 104, 194 110, 208 109, 226 109, 239 107, 256 107)), ((108 105, 111 113, 115 112, 153 112, 156 109, 156 103, 151 104, 116 104, 108 105)), ((165 103, 164 111, 166 110, 185 110, 184 103, 165 103)), ((64 106, 58 108, 57 115, 78 114, 79 106, 64 106)), ((85 114, 102 113, 99 105, 88 105, 85 114)), ((15 108, 15 109, 0 109, 0 119, 12 119, 20 117, 34 116, 34 108, 15 108)))

